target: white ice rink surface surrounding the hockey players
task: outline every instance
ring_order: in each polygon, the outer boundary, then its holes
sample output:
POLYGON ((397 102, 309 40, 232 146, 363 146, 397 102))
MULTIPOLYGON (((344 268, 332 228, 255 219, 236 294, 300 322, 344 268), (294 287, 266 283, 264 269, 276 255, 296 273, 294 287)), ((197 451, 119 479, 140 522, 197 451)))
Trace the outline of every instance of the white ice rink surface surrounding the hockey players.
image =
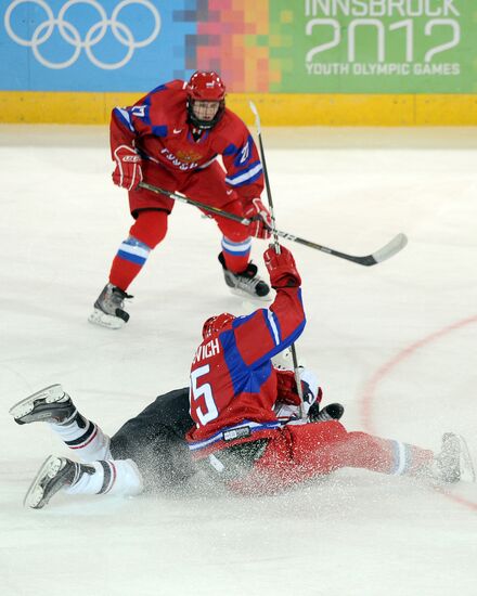
MULTIPOLYGON (((477 459, 477 129, 265 129, 279 228, 366 255, 364 268, 293 243, 308 325, 300 360, 348 429, 477 459)), ((47 425, 9 407, 54 383, 114 431, 188 385, 203 321, 247 308, 229 294, 219 234, 177 205, 130 287, 128 325, 87 322, 130 225, 111 182, 106 128, 0 127, 0 591, 2 596, 474 596, 477 484, 345 469, 265 498, 22 501, 50 453, 47 425)), ((254 259, 265 274, 263 244, 254 259)))

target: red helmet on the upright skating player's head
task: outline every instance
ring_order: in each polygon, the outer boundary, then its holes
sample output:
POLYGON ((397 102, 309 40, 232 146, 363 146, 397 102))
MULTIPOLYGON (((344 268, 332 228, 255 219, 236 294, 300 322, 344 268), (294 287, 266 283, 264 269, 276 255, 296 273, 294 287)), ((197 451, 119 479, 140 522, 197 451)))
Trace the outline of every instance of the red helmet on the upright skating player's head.
POLYGON ((214 70, 195 72, 188 82, 186 92, 190 122, 201 130, 214 128, 225 109, 225 85, 219 75, 214 70), (205 117, 194 108, 195 102, 218 102, 217 112, 211 118, 205 117))

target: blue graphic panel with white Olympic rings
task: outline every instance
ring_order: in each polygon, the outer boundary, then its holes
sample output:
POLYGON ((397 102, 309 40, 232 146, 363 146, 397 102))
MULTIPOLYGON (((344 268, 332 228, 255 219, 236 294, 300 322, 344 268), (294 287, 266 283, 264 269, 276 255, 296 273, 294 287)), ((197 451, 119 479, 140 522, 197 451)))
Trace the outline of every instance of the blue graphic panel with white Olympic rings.
MULTIPOLYGON (((201 2, 201 0, 197 0, 201 2)), ((147 91, 188 78, 196 0, 3 0, 0 89, 147 91)))

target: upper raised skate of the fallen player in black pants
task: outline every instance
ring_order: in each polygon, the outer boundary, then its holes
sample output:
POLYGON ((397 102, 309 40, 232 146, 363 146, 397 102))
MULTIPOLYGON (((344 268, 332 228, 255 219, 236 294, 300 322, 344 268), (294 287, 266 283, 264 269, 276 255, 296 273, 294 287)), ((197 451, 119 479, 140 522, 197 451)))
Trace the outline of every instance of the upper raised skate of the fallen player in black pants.
POLYGON ((13 416, 16 424, 37 422, 62 424, 74 417, 76 407, 61 385, 51 385, 15 403, 9 414, 13 416))

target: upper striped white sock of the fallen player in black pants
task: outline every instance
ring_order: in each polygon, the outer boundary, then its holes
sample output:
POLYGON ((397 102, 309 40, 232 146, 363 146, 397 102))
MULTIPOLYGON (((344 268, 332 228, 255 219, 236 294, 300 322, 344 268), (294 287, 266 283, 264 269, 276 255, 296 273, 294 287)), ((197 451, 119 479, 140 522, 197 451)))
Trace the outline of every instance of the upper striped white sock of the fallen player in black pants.
POLYGON ((78 412, 69 422, 50 424, 50 427, 82 462, 112 458, 109 437, 78 412))

